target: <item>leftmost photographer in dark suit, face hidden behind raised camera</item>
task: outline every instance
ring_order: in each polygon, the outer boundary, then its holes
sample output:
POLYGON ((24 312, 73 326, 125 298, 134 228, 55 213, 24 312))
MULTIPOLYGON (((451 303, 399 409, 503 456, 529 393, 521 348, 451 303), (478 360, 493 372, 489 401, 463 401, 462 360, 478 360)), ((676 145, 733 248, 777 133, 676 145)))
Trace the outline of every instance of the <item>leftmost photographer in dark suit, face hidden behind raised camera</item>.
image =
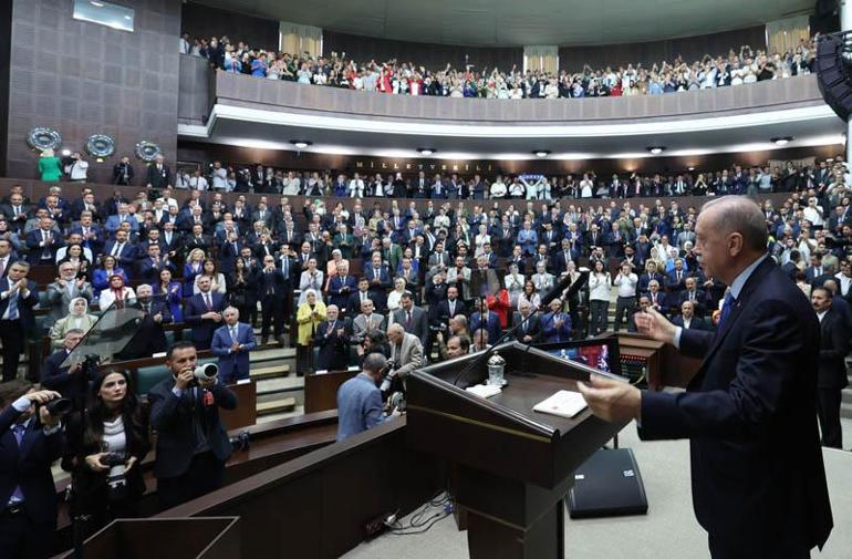
POLYGON ((41 404, 59 397, 24 381, 0 384, 0 549, 6 558, 44 558, 52 547, 56 489, 51 465, 65 435, 60 416, 41 404))

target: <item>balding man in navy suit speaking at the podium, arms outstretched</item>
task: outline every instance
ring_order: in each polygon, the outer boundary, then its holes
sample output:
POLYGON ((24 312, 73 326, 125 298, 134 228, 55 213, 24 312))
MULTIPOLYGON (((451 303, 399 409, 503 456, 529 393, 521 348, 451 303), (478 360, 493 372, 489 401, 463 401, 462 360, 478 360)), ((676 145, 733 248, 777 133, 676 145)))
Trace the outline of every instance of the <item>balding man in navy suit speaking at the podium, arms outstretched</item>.
POLYGON ((745 197, 704 205, 704 271, 730 286, 715 333, 653 311, 638 331, 704 363, 685 393, 593 379, 580 392, 607 421, 636 418, 644 439, 689 438, 693 504, 714 559, 797 559, 833 520, 817 429, 820 325, 766 255, 766 216, 745 197))

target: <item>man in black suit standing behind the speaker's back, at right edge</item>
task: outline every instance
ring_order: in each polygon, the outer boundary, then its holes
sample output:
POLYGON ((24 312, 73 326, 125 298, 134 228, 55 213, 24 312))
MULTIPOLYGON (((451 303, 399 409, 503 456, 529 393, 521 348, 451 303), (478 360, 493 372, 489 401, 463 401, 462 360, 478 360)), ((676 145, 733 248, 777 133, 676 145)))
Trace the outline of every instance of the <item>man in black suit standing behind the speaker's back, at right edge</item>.
POLYGON ((817 374, 817 412, 820 417, 823 446, 842 448, 840 401, 849 386, 845 358, 849 353, 850 331, 843 317, 832 307, 828 288, 811 290, 811 304, 820 321, 820 364, 817 374))

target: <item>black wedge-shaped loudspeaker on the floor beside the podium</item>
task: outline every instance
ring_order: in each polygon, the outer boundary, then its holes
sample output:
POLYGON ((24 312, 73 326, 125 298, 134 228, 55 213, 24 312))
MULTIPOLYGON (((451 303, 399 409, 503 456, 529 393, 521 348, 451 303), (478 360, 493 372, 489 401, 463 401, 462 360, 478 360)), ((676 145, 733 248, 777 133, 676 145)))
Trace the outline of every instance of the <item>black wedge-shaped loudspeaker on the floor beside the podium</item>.
POLYGON ((574 472, 565 497, 571 518, 645 515, 648 501, 630 448, 601 448, 574 472))

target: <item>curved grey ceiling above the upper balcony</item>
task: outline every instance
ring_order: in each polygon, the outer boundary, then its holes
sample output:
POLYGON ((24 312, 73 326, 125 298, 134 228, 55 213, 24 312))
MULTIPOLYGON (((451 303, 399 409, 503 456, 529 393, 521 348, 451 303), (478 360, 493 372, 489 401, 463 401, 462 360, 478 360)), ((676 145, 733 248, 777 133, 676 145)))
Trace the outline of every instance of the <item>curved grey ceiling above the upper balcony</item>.
POLYGON ((199 0, 267 19, 444 44, 616 44, 809 13, 813 0, 199 0))

